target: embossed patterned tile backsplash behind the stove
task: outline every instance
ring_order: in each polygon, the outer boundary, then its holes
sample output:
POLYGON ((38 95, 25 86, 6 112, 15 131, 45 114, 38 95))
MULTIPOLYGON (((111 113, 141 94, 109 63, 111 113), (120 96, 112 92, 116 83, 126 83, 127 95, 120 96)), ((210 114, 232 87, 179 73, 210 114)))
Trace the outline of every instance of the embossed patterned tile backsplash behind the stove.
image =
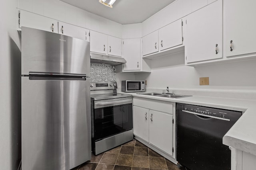
POLYGON ((91 63, 91 82, 116 82, 116 66, 91 63))

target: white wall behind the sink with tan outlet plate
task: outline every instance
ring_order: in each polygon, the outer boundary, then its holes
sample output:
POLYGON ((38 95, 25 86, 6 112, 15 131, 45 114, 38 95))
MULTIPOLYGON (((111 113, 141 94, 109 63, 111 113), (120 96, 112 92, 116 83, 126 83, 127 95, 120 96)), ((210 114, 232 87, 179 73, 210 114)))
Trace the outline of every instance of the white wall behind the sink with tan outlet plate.
POLYGON ((184 65, 184 52, 152 60, 152 72, 136 74, 147 80, 147 88, 227 90, 256 92, 256 60, 191 67, 184 65), (200 86, 199 78, 209 77, 209 86, 200 86))

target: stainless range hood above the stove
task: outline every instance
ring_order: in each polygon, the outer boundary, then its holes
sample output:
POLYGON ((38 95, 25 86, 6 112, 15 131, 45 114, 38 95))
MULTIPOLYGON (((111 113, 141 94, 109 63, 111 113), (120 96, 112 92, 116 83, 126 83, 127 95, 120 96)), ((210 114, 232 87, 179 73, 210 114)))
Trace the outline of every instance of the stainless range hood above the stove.
POLYGON ((126 60, 122 57, 114 57, 95 53, 90 53, 90 56, 91 63, 109 64, 114 66, 126 63, 126 60))

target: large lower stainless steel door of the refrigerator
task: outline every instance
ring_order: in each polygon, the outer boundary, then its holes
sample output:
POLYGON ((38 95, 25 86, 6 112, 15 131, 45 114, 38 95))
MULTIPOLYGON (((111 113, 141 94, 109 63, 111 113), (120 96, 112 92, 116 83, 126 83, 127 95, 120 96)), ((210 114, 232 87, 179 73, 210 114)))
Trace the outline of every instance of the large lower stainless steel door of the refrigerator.
POLYGON ((22 170, 69 170, 91 158, 90 79, 22 77, 22 170))

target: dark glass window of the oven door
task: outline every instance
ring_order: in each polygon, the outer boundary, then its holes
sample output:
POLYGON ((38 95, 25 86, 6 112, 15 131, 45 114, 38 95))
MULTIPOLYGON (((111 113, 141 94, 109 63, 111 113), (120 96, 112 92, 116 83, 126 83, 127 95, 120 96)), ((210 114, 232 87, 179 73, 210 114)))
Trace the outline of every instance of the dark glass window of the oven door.
POLYGON ((94 140, 132 129, 132 104, 94 109, 94 140))

